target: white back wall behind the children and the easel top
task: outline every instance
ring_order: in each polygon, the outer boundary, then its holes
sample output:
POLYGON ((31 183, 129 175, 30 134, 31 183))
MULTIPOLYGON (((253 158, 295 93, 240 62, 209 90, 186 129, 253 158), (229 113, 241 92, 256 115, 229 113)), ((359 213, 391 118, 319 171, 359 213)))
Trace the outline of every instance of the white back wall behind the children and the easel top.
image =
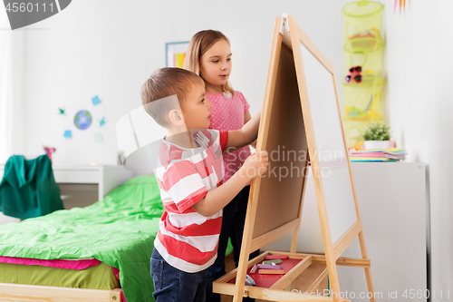
MULTIPOLYGON (((140 85, 165 65, 165 43, 188 41, 213 28, 231 40, 233 86, 261 108, 275 17, 294 15, 323 54, 343 70, 342 5, 347 1, 73 1, 60 14, 31 25, 26 33, 24 110, 15 122, 15 152, 56 147, 55 163, 116 164, 115 123, 140 106, 140 85), (326 4, 329 5, 327 9, 326 4), (66 122, 57 114, 68 103, 104 100, 104 141, 63 139, 66 122), (24 144, 24 146, 21 146, 24 144)), ((337 74, 342 95, 342 73, 337 74)))

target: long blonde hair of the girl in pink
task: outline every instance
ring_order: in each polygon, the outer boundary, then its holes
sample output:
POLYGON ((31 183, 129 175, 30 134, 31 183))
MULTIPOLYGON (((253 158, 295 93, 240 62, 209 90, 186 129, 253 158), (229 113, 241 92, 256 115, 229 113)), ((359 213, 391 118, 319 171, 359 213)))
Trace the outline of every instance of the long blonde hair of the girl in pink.
MULTIPOLYGON (((194 34, 188 44, 188 52, 186 53, 186 58, 184 59, 184 68, 199 75, 199 59, 209 48, 211 48, 212 45, 222 39, 229 44, 228 38, 226 38, 225 34, 211 29, 194 34)), ((233 90, 231 83, 229 83, 229 80, 222 85, 222 91, 230 92, 235 95, 235 91, 233 90)))

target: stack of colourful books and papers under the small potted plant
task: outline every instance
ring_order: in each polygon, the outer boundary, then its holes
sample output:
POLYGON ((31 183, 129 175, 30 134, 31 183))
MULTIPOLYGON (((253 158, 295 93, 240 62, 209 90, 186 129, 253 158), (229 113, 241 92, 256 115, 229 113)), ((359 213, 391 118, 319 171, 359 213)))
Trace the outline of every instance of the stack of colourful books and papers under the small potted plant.
POLYGON ((363 161, 396 162, 402 161, 405 158, 406 151, 401 148, 367 149, 350 152, 350 159, 352 162, 363 162, 363 161))

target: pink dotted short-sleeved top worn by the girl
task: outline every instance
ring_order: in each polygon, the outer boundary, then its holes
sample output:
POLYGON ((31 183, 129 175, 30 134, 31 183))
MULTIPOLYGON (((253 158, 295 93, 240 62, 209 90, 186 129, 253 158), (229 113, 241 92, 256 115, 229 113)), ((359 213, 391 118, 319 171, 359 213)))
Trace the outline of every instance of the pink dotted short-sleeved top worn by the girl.
MULTIPOLYGON (((230 99, 226 97, 231 96, 231 93, 226 93, 226 96, 206 93, 206 96, 207 101, 212 103, 209 129, 238 130, 244 126, 244 115, 250 105, 242 93, 235 91, 235 95, 230 99)), ((246 146, 224 155, 223 182, 229 180, 242 167, 250 154, 250 147, 246 146)))

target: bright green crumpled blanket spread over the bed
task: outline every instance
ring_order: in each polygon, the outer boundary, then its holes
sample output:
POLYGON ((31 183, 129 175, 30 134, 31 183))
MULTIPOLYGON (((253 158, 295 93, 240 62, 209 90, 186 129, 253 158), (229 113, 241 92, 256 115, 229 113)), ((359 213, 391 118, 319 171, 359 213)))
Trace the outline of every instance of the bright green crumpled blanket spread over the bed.
POLYGON ((0 256, 97 258, 120 269, 128 301, 154 301, 149 259, 162 212, 155 176, 136 177, 92 206, 0 227, 0 256))

